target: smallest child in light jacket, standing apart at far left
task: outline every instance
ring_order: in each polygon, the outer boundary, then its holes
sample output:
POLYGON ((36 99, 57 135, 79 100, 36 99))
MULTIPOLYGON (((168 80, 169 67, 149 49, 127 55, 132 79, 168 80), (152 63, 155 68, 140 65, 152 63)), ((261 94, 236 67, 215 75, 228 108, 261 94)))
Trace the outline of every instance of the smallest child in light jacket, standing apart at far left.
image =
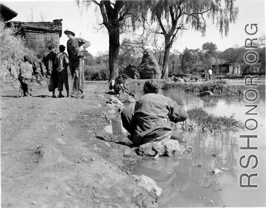
POLYGON ((20 65, 19 70, 19 81, 20 87, 19 92, 21 92, 21 97, 30 95, 30 82, 32 78, 33 68, 32 65, 29 63, 30 57, 25 55, 24 56, 24 63, 20 65), (26 95, 27 92, 27 95, 26 95))

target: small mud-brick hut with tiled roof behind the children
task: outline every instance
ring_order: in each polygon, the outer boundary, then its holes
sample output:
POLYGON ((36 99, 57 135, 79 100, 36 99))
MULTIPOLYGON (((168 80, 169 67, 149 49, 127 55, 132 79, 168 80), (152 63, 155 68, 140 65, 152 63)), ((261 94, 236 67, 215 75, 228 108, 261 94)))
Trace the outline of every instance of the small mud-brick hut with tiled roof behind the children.
POLYGON ((38 55, 43 56, 48 52, 48 46, 54 44, 56 53, 59 53, 59 39, 62 36, 62 19, 53 22, 8 22, 7 26, 18 30, 25 41, 25 46, 34 49, 38 55))

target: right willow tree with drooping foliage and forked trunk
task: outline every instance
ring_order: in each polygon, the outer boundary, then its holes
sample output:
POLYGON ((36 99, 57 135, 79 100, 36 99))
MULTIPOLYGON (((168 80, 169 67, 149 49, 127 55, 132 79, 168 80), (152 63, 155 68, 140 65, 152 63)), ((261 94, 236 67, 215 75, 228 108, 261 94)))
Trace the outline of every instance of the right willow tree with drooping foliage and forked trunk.
POLYGON ((158 23, 158 29, 154 31, 165 37, 165 55, 162 78, 168 77, 168 62, 172 44, 180 30, 187 30, 189 26, 193 30, 206 32, 206 18, 216 23, 221 35, 227 36, 229 23, 235 23, 238 8, 234 7, 234 0, 225 0, 225 8, 222 8, 221 0, 170 0, 148 2, 151 11, 151 23, 158 23), (166 24, 164 24, 166 21, 166 24))

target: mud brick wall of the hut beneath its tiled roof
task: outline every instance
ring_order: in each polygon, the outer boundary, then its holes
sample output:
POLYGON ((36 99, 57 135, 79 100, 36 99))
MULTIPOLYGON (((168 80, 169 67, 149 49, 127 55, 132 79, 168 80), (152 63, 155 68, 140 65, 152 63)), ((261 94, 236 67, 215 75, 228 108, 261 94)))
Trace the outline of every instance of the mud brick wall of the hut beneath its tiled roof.
POLYGON ((37 51, 41 56, 49 51, 48 46, 54 44, 59 53, 59 32, 25 31, 25 46, 37 51))

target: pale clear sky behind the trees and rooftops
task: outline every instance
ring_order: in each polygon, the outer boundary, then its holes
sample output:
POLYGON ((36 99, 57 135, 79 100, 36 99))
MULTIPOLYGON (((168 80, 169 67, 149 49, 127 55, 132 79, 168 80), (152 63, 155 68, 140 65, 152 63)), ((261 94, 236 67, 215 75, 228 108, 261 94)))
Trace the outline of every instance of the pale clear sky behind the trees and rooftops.
MULTIPOLYGON (((87 50, 94 56, 97 55, 98 51, 105 52, 109 48, 107 30, 97 31, 93 27, 97 23, 97 15, 101 15, 98 12, 95 16, 95 4, 92 4, 86 12, 85 9, 81 10, 75 1, 1 1, 1 3, 18 13, 12 21, 26 22, 26 18, 31 13, 31 7, 35 11, 34 22, 38 22, 37 18, 40 19, 39 13, 41 11, 46 13, 45 21, 47 22, 52 22, 54 19, 63 19, 62 30, 71 28, 76 37, 79 37, 81 33, 83 39, 90 41, 91 45, 87 50)), ((258 24, 258 32, 252 35, 252 39, 258 38, 262 33, 265 34, 264 0, 236 0, 234 5, 239 8, 239 16, 236 24, 229 25, 227 37, 221 38, 216 26, 208 24, 209 27, 206 29, 205 37, 201 37, 200 32, 191 29, 183 31, 183 34, 173 44, 172 50, 176 49, 183 52, 186 47, 188 49, 201 49, 202 44, 206 42, 215 43, 219 51, 224 51, 234 44, 242 46, 245 44, 246 38, 251 38, 250 35, 244 32, 245 25, 251 23, 258 24)), ((163 38, 163 36, 161 37, 163 38)), ((60 44, 66 45, 67 40, 67 36, 62 33, 60 44)), ((122 37, 120 40, 122 40, 122 37)), ((150 48, 152 49, 152 47, 150 48)))

